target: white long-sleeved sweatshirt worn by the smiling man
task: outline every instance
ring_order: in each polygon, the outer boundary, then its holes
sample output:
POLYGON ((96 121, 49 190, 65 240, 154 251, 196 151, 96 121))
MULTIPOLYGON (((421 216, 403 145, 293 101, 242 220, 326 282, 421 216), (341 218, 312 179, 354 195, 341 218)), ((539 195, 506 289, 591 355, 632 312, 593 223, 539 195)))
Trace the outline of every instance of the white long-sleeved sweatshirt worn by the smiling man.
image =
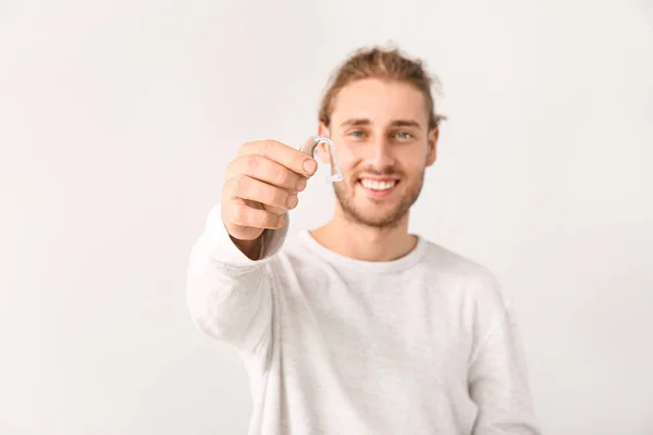
POLYGON ((540 434, 515 320, 483 266, 420 238, 389 262, 267 231, 261 260, 208 216, 187 300, 250 378, 249 434, 540 434))

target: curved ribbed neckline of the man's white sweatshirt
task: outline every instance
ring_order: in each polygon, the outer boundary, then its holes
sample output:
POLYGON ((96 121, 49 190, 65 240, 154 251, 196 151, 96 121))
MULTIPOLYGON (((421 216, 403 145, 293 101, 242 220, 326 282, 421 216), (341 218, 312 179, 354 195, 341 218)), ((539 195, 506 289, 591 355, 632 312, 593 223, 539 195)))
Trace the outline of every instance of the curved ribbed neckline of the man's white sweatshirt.
POLYGON ((338 266, 355 269, 359 271, 368 271, 375 273, 395 273, 404 271, 415 263, 421 260, 424 252, 427 251, 428 243, 424 238, 417 236, 417 245, 415 248, 396 260, 392 261, 366 261, 366 260, 357 260, 350 257, 346 257, 334 252, 324 246, 322 246, 318 240, 313 238, 310 234, 310 231, 303 229, 298 232, 298 237, 300 243, 305 248, 317 254, 318 257, 329 261, 338 266))

